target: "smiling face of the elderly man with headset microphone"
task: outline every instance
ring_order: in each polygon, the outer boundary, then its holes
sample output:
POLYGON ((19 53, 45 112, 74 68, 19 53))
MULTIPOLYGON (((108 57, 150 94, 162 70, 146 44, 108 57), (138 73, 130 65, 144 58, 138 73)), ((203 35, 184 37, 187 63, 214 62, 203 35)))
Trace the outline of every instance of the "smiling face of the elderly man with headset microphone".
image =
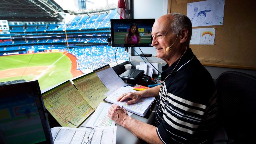
MULTIPOLYGON (((151 45, 155 47, 157 57, 164 61, 170 59, 172 49, 167 52, 166 48, 174 43, 177 36, 172 33, 169 27, 169 22, 166 17, 160 17, 152 27, 153 40, 151 45)), ((178 41, 175 43, 178 43, 178 41)), ((175 46, 175 44, 173 46, 175 46)))

